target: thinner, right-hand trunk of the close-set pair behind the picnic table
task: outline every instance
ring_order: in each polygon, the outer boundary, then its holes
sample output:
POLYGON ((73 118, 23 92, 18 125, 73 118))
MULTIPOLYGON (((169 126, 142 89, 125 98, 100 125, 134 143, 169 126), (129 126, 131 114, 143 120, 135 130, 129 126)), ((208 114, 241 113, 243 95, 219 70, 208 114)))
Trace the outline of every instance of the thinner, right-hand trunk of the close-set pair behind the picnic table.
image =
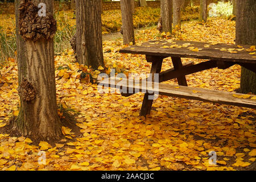
POLYGON ((173 0, 174 5, 174 28, 180 29, 181 27, 181 7, 183 6, 184 0, 173 0))

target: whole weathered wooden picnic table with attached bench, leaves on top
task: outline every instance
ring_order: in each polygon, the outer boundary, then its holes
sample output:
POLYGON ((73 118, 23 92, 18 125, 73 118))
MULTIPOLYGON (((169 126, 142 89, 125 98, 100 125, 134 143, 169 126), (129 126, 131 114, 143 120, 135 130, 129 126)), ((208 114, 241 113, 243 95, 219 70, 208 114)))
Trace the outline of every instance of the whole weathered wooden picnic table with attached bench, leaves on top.
MULTIPOLYGON (((151 40, 141 45, 123 48, 119 52, 146 55, 146 60, 152 63, 151 73, 159 73, 159 82, 177 78, 180 85, 179 89, 176 89, 177 86, 174 85, 159 84, 159 94, 256 108, 256 101, 250 99, 251 97, 240 98, 239 96, 242 97, 242 94, 238 94, 237 98, 234 97, 234 93, 230 92, 188 88, 185 78, 185 75, 210 68, 226 69, 234 64, 239 64, 242 67, 256 72, 256 54, 254 54, 256 51, 251 46, 180 40, 151 40), (163 59, 166 57, 171 57, 174 68, 161 72, 163 59), (193 62, 182 64, 181 57, 203 59, 205 61, 199 64, 193 64, 193 62), (196 92, 194 92, 195 90, 196 92)), ((115 85, 118 85, 118 81, 115 82, 115 85)), ((128 83, 126 86, 129 88, 128 83)), ((135 87, 136 86, 133 86, 133 88, 135 87)), ((140 90, 143 90, 142 88, 143 85, 139 87, 140 90)), ((154 88, 151 88, 151 91, 152 90, 154 90, 154 88)), ((130 95, 131 94, 123 94, 123 96, 130 95)), ((150 114, 153 100, 148 100, 149 95, 150 93, 145 93, 141 115, 150 114)))

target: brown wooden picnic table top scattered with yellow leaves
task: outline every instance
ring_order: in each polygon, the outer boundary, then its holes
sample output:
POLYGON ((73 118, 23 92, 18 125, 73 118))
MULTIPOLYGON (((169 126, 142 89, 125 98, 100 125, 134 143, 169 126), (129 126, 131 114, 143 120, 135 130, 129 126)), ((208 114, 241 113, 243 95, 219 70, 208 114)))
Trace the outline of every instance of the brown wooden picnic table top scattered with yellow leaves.
POLYGON ((245 45, 237 46, 234 44, 181 40, 150 40, 143 44, 123 48, 120 52, 256 64, 256 51, 254 47, 245 45))

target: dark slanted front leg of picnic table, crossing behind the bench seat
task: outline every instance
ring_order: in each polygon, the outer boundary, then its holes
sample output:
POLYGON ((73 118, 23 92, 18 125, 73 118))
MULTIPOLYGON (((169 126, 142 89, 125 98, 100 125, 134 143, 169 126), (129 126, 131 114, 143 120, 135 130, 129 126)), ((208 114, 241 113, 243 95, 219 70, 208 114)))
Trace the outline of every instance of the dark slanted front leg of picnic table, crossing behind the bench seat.
MULTIPOLYGON (((157 61, 152 61, 152 67, 151 67, 151 72, 150 72, 152 74, 152 81, 154 81, 154 74, 160 73, 160 71, 162 69, 162 63, 163 63, 162 57, 156 56, 155 59, 157 61)), ((142 107, 141 107, 141 113, 140 113, 141 116, 146 116, 147 114, 150 114, 151 107, 153 104, 153 100, 148 100, 148 96, 150 96, 150 95, 154 95, 154 94, 146 93, 144 95, 144 99, 143 99, 143 103, 142 103, 142 107)))

